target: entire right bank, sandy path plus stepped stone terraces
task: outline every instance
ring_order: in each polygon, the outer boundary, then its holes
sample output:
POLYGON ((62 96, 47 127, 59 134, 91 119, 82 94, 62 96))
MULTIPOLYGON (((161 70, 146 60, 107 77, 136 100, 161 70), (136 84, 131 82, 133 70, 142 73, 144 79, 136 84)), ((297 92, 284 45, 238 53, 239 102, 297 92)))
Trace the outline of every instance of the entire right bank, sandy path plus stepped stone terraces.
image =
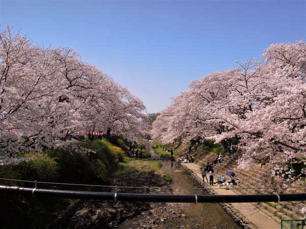
MULTIPOLYGON (((230 156, 225 156, 222 158, 221 163, 214 165, 214 179, 215 181, 219 176, 225 175, 226 171, 234 171, 236 176, 239 178, 240 183, 235 188, 225 190, 213 186, 210 189, 205 183, 201 181, 200 166, 206 164, 207 161, 211 161, 216 158, 216 154, 206 154, 197 160, 196 163, 186 163, 183 166, 192 174, 194 179, 198 180, 203 187, 206 187, 208 191, 212 194, 272 194, 277 193, 280 189, 271 188, 276 187, 273 179, 271 179, 270 168, 268 165, 257 166, 250 170, 238 170, 237 169, 237 158, 238 154, 233 154, 230 156)), ((296 182, 292 186, 300 188, 289 188, 284 190, 284 192, 294 193, 294 192, 305 192, 305 182, 296 182)), ((254 228, 279 228, 281 226, 281 219, 302 219, 303 214, 301 213, 301 208, 305 207, 304 202, 266 202, 266 203, 232 203, 226 204, 227 212, 232 215, 235 219, 242 217, 249 223, 246 223, 249 227, 254 228), (228 211, 228 207, 230 207, 228 211), (269 224, 267 224, 269 223, 269 224)), ((225 209, 225 210, 226 210, 225 209)), ((242 223, 245 224, 245 222, 242 223)))

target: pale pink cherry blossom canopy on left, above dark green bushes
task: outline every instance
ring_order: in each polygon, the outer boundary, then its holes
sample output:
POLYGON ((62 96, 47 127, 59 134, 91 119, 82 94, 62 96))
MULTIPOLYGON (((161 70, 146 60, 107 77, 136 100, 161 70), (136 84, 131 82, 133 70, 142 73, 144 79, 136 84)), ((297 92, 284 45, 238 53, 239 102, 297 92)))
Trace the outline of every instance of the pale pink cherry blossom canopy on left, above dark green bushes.
POLYGON ((10 27, 0 33, 0 145, 54 147, 64 135, 147 131, 142 101, 71 48, 42 49, 10 27))

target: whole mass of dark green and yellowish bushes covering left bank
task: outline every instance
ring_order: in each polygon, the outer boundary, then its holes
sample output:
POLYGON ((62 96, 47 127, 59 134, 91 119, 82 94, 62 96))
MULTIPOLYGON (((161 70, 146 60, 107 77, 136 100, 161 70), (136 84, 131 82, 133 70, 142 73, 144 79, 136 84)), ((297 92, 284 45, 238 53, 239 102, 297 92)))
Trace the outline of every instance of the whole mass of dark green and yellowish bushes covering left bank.
MULTIPOLYGON (((32 181, 105 184, 117 169, 119 161, 124 161, 121 148, 99 139, 47 150, 40 154, 20 152, 18 156, 28 157, 31 160, 21 161, 18 164, 1 165, 0 177, 32 181)), ((34 184, 21 182, 2 181, 2 184, 34 187, 34 184)), ((61 189, 63 187, 38 183, 38 188, 61 189)), ((82 190, 84 189, 89 190, 82 187, 82 190)), ((69 199, 51 196, 33 198, 32 196, 5 193, 2 195, 0 205, 5 211, 0 214, 0 220, 10 222, 10 224, 2 225, 3 228, 22 228, 24 226, 26 228, 46 228, 70 203, 69 199)))

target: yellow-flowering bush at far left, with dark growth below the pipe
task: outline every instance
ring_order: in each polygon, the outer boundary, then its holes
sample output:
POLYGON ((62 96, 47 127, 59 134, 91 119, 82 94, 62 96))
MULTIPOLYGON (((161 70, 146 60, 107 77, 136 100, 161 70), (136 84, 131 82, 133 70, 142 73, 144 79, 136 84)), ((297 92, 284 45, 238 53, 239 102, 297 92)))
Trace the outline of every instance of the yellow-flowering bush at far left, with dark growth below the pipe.
MULTIPOLYGON (((44 153, 30 153, 23 156, 29 157, 31 160, 22 161, 18 164, 1 165, 0 177, 32 181, 57 181, 60 176, 60 168, 54 158, 44 153)), ((34 187, 33 183, 5 181, 1 183, 34 187)), ((45 184, 38 183, 37 185, 38 188, 49 188, 45 184)), ((56 219, 62 209, 65 209, 68 204, 67 199, 51 196, 48 198, 33 198, 32 196, 3 193, 2 198, 0 198, 0 205, 5 211, 2 211, 2 214, 0 214, 0 220, 9 223, 2 224, 2 228, 44 228, 48 223, 56 219)))

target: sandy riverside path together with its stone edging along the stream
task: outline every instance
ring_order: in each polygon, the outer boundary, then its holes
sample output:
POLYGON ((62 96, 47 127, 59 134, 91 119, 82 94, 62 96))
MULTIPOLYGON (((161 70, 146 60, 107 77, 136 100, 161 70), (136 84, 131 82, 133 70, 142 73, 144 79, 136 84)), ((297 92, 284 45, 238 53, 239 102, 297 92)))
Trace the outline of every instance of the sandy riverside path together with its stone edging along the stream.
MULTIPOLYGON (((212 195, 236 194, 232 190, 219 189, 217 186, 214 186, 216 189, 207 187, 202 181, 200 166, 195 163, 182 163, 182 168, 187 171, 201 187, 205 188, 212 195)), ((279 229, 281 227, 280 223, 272 220, 251 203, 220 203, 220 205, 244 228, 279 229)))

